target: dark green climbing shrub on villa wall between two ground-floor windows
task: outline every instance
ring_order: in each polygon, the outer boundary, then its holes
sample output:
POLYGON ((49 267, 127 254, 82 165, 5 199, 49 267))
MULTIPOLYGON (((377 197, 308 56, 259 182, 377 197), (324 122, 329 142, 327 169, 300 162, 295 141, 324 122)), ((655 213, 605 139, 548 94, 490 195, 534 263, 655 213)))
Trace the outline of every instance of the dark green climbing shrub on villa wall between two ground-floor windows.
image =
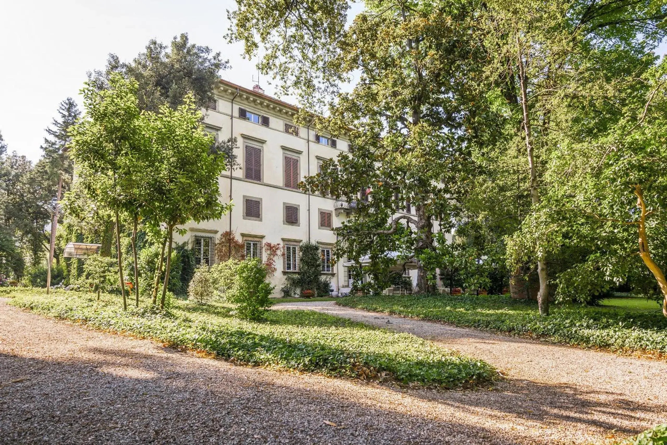
POLYGON ((287 275, 290 292, 299 294, 311 290, 317 297, 331 294, 331 284, 322 278, 322 257, 319 244, 301 243, 299 246, 299 272, 287 275))

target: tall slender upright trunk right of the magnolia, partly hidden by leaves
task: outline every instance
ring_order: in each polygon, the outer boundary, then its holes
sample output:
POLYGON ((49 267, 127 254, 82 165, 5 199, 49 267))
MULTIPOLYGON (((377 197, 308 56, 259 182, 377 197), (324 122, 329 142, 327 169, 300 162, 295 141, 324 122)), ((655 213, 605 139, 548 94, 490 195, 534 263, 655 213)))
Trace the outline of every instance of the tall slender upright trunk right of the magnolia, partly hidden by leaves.
MULTIPOLYGON (((528 108, 528 78, 526 77, 526 67, 524 66, 524 57, 521 51, 521 42, 519 37, 516 38, 518 46, 518 65, 519 65, 519 80, 521 85, 521 107, 524 113, 524 134, 526 135, 526 151, 528 153, 528 168, 530 169, 530 199, 533 205, 540 203, 540 193, 538 191, 538 173, 535 165, 535 157, 533 152, 533 141, 530 132, 530 109, 528 108)), ((540 277, 540 292, 538 294, 538 307, 540 308, 541 316, 549 315, 549 276, 546 268, 545 254, 540 252, 538 246, 538 276, 540 277)))

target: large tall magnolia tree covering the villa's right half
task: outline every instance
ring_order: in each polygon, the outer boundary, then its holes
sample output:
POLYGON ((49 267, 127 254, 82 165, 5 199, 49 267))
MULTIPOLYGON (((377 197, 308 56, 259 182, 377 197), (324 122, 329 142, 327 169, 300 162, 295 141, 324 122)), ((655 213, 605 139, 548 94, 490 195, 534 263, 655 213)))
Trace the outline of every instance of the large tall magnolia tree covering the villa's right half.
POLYGON ((232 38, 249 55, 264 45, 261 67, 306 111, 321 111, 323 95, 335 97, 315 126, 334 137, 351 133, 348 153, 303 185, 354 203, 336 230, 338 257, 370 255, 382 288, 386 252, 400 252, 417 264, 418 292, 432 290, 434 231, 452 228, 457 197, 474 173, 470 145, 486 137, 482 122, 493 116, 470 82, 481 79, 484 59, 472 41, 475 3, 368 2, 348 28, 345 1, 260 3, 238 2, 232 38), (352 91, 340 91, 353 76, 352 91))

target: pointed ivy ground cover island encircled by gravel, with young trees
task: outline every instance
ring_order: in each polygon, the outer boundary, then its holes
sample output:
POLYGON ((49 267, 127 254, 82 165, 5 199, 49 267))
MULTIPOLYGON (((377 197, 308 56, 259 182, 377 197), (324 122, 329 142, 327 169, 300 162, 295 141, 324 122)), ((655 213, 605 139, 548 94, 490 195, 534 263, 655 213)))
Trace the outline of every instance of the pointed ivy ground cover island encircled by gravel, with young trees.
POLYGON ((160 312, 144 304, 123 312, 119 296, 79 292, 17 291, 10 304, 94 328, 203 350, 239 364, 317 372, 328 376, 382 377, 404 384, 446 388, 489 384, 492 366, 398 334, 343 318, 300 310, 271 310, 264 322, 239 320, 225 304, 175 300, 160 312))

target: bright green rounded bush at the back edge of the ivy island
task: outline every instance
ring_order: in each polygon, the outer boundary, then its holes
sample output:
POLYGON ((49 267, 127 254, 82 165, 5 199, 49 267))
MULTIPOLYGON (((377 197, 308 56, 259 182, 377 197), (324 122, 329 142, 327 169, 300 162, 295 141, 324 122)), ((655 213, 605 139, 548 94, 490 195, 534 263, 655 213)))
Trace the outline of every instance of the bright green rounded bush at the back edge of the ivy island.
POLYGON ((225 300, 236 305, 235 315, 248 320, 261 319, 272 304, 269 296, 274 287, 266 281, 266 266, 253 258, 238 262, 234 270, 234 278, 226 278, 222 283, 225 300))

